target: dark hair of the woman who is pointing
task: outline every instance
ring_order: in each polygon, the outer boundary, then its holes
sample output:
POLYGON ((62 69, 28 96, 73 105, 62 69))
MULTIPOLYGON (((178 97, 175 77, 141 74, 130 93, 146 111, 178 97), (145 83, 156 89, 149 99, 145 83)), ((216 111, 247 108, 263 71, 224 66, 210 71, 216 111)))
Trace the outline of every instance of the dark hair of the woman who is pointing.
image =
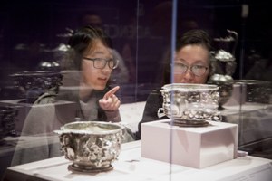
POLYGON ((87 25, 77 29, 73 33, 68 44, 73 50, 73 63, 76 69, 81 69, 83 52, 90 48, 94 40, 100 40, 103 45, 112 48, 111 38, 101 28, 87 25))

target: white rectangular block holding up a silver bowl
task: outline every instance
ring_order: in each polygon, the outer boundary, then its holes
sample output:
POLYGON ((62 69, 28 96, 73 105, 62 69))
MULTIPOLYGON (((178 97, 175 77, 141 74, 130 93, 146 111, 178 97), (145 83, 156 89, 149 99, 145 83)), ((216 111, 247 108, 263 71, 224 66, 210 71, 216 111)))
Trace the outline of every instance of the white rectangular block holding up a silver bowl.
POLYGON ((238 125, 171 126, 170 119, 141 124, 141 157, 203 168, 237 157, 238 125))

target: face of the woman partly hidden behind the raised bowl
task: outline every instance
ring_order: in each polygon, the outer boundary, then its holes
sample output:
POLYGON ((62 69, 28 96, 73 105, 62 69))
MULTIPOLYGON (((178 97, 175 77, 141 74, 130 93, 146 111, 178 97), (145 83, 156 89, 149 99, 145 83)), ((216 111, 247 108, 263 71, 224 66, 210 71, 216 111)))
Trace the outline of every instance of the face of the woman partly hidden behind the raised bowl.
POLYGON ((206 83, 209 51, 201 45, 184 46, 175 54, 173 73, 174 83, 206 83))

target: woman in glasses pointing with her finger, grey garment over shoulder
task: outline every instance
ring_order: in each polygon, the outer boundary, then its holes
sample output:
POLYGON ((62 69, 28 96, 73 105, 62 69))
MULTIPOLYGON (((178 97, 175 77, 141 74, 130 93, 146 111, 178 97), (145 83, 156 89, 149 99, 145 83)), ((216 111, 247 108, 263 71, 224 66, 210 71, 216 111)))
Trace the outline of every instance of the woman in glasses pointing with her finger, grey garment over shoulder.
MULTIPOLYGON (((110 87, 112 71, 118 67, 118 60, 114 59, 108 35, 102 29, 84 26, 73 33, 69 45, 71 62, 68 64, 73 65, 73 71, 66 71, 63 81, 73 79, 73 85, 77 86, 61 87, 58 94, 48 91, 34 102, 39 109, 29 111, 19 142, 25 141, 24 136, 40 136, 39 147, 29 141, 27 148, 18 144, 12 165, 60 156, 58 137, 53 137, 56 139, 53 141, 52 136, 53 130, 60 129, 65 123, 74 120, 121 122, 121 102, 115 95, 120 88, 110 87), (57 100, 73 102, 75 106, 66 110, 57 105, 57 100)), ((131 130, 126 129, 123 142, 132 140, 131 130)))

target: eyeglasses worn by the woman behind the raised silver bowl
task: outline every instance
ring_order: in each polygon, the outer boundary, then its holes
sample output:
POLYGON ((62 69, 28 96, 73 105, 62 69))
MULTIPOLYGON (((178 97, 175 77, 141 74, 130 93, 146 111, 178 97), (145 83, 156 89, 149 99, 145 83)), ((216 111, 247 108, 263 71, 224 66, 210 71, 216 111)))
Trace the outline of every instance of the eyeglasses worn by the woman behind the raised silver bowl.
POLYGON ((202 76, 206 73, 206 71, 208 70, 208 67, 203 66, 203 65, 192 65, 192 66, 188 66, 186 64, 183 64, 181 62, 174 62, 174 73, 185 73, 186 71, 191 71, 194 75, 196 76, 202 76))

